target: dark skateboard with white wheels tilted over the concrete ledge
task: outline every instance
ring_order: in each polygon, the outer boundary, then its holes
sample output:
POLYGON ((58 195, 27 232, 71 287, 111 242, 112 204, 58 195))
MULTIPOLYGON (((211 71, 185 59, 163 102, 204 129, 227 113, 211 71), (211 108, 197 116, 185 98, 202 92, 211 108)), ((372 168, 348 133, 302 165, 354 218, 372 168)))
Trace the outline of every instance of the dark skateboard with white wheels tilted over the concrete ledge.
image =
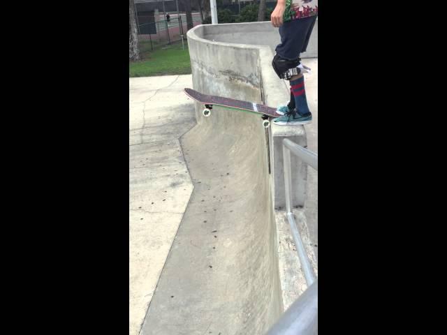
POLYGON ((210 96, 208 94, 201 94, 193 89, 184 89, 187 96, 193 98, 199 103, 205 105, 202 111, 204 117, 211 115, 213 105, 228 108, 230 110, 242 110, 243 112, 251 112, 261 114, 263 119, 263 126, 268 128, 270 126, 270 119, 272 117, 282 117, 278 114, 276 108, 268 107, 266 105, 259 105, 258 103, 250 103, 249 101, 236 100, 231 98, 223 98, 222 96, 210 96))

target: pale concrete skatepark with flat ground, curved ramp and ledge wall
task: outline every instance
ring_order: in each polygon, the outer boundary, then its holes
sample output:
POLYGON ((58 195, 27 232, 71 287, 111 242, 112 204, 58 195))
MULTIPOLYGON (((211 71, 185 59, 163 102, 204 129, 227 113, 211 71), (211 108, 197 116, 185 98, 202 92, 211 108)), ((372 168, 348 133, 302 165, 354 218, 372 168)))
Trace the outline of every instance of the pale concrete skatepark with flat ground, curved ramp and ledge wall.
MULTIPOLYGON (((130 335, 266 334, 306 292, 286 216, 283 140, 318 152, 317 26, 302 55, 314 114, 305 127, 264 128, 256 114, 219 107, 203 117, 183 93, 288 101, 271 66, 279 34, 270 22, 195 27, 192 75, 129 79, 130 335)), ((294 155, 290 167, 317 278, 318 172, 294 155)))

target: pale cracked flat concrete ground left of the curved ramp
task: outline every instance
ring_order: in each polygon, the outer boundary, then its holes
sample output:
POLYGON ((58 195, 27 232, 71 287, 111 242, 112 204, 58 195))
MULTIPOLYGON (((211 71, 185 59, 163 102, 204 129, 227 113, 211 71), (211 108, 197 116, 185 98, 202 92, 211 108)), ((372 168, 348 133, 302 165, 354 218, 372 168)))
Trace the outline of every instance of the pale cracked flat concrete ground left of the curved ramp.
POLYGON ((191 75, 129 79, 129 334, 140 332, 193 191, 179 137, 196 124, 191 75))

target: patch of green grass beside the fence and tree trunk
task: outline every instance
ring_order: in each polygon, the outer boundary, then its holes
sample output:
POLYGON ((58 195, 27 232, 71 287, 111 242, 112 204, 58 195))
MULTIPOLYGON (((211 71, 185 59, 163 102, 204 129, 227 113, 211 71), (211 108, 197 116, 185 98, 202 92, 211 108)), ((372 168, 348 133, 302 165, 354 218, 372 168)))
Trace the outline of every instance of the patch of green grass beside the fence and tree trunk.
POLYGON ((129 77, 150 77, 153 75, 189 75, 191 63, 189 60, 188 43, 184 41, 172 45, 159 45, 150 41, 141 41, 140 61, 129 61, 129 77))

